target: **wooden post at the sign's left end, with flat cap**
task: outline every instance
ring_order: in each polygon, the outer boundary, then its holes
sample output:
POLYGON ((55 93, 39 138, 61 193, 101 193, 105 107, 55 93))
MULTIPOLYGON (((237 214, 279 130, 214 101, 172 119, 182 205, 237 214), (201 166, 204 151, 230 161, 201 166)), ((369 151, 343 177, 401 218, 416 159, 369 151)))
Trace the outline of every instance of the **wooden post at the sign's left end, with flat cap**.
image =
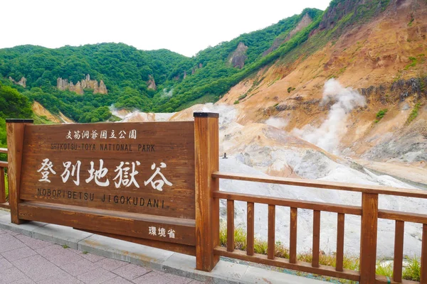
POLYGON ((23 131, 26 124, 32 124, 33 119, 6 119, 7 148, 8 148, 8 177, 9 204, 11 206, 11 222, 21 224, 18 217, 19 185, 21 182, 21 163, 23 150, 23 131))

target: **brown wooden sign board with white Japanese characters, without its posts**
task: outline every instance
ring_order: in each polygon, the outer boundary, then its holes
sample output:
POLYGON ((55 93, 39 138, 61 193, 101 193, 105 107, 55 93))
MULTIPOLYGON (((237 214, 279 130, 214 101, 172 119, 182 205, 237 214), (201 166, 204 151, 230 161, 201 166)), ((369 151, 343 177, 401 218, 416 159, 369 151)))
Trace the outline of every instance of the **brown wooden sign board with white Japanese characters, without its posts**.
POLYGON ((19 217, 194 245, 194 183, 193 121, 27 125, 19 217))

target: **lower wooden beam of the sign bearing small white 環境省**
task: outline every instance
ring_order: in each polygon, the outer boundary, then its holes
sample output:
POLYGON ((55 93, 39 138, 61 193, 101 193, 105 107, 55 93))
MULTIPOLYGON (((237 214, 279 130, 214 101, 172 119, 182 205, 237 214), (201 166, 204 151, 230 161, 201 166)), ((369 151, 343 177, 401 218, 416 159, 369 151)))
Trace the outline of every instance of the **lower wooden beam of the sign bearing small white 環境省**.
POLYGON ((149 214, 119 212, 46 202, 22 202, 19 218, 40 221, 77 229, 152 239, 174 244, 196 245, 195 221, 149 214), (150 230, 150 228, 154 228, 150 230), (160 229, 164 229, 163 232, 160 229), (169 230, 173 230, 174 236, 169 230), (163 234, 162 234, 163 233, 163 234))

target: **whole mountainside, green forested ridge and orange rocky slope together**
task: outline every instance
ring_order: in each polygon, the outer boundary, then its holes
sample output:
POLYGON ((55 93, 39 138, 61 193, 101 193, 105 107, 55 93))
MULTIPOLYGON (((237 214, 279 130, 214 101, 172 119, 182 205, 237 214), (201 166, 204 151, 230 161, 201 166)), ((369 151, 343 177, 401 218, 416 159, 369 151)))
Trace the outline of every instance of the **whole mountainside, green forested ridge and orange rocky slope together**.
POLYGON ((0 81, 78 122, 115 120, 111 105, 171 113, 219 100, 242 126, 273 117, 330 153, 426 168, 426 33, 425 0, 333 0, 193 58, 114 43, 7 48, 0 81))

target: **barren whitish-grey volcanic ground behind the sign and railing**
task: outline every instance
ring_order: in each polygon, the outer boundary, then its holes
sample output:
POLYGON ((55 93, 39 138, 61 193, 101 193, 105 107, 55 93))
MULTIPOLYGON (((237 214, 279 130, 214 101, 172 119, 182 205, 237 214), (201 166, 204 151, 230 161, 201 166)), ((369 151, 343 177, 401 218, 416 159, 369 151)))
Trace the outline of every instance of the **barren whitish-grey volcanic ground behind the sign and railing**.
MULTIPOLYGON (((193 119, 194 111, 211 111, 220 114, 220 170, 253 176, 267 173, 281 176, 298 176, 317 180, 350 182, 362 185, 386 185, 416 188, 388 175, 374 175, 351 160, 332 155, 317 146, 283 131, 285 121, 267 121, 267 124, 243 126, 236 122, 236 109, 223 105, 196 105, 174 114, 120 114, 123 121, 182 121, 193 119)), ((116 115, 118 113, 115 113, 116 115)), ((295 200, 311 200, 336 204, 361 204, 362 195, 357 192, 325 190, 285 185, 269 185, 259 182, 221 180, 221 190, 251 195, 284 197, 295 200)), ((427 200, 380 195, 379 208, 402 212, 427 213, 427 200)), ((235 224, 246 228, 246 202, 235 204, 235 224)), ((221 219, 226 222, 226 201, 221 202, 221 219)), ((290 209, 276 207, 276 240, 289 245, 290 209)), ((255 204, 255 236, 267 239, 267 205, 255 204)), ((421 225, 406 223, 404 254, 419 256, 421 252, 421 225)), ((320 249, 327 253, 336 250, 337 214, 322 212, 320 249)), ((344 253, 358 255, 360 247, 360 217, 346 215, 344 253)), ((297 251, 312 248, 312 210, 298 209, 297 251)), ((379 258, 391 258, 394 251, 394 222, 379 219, 377 253, 379 258)))

